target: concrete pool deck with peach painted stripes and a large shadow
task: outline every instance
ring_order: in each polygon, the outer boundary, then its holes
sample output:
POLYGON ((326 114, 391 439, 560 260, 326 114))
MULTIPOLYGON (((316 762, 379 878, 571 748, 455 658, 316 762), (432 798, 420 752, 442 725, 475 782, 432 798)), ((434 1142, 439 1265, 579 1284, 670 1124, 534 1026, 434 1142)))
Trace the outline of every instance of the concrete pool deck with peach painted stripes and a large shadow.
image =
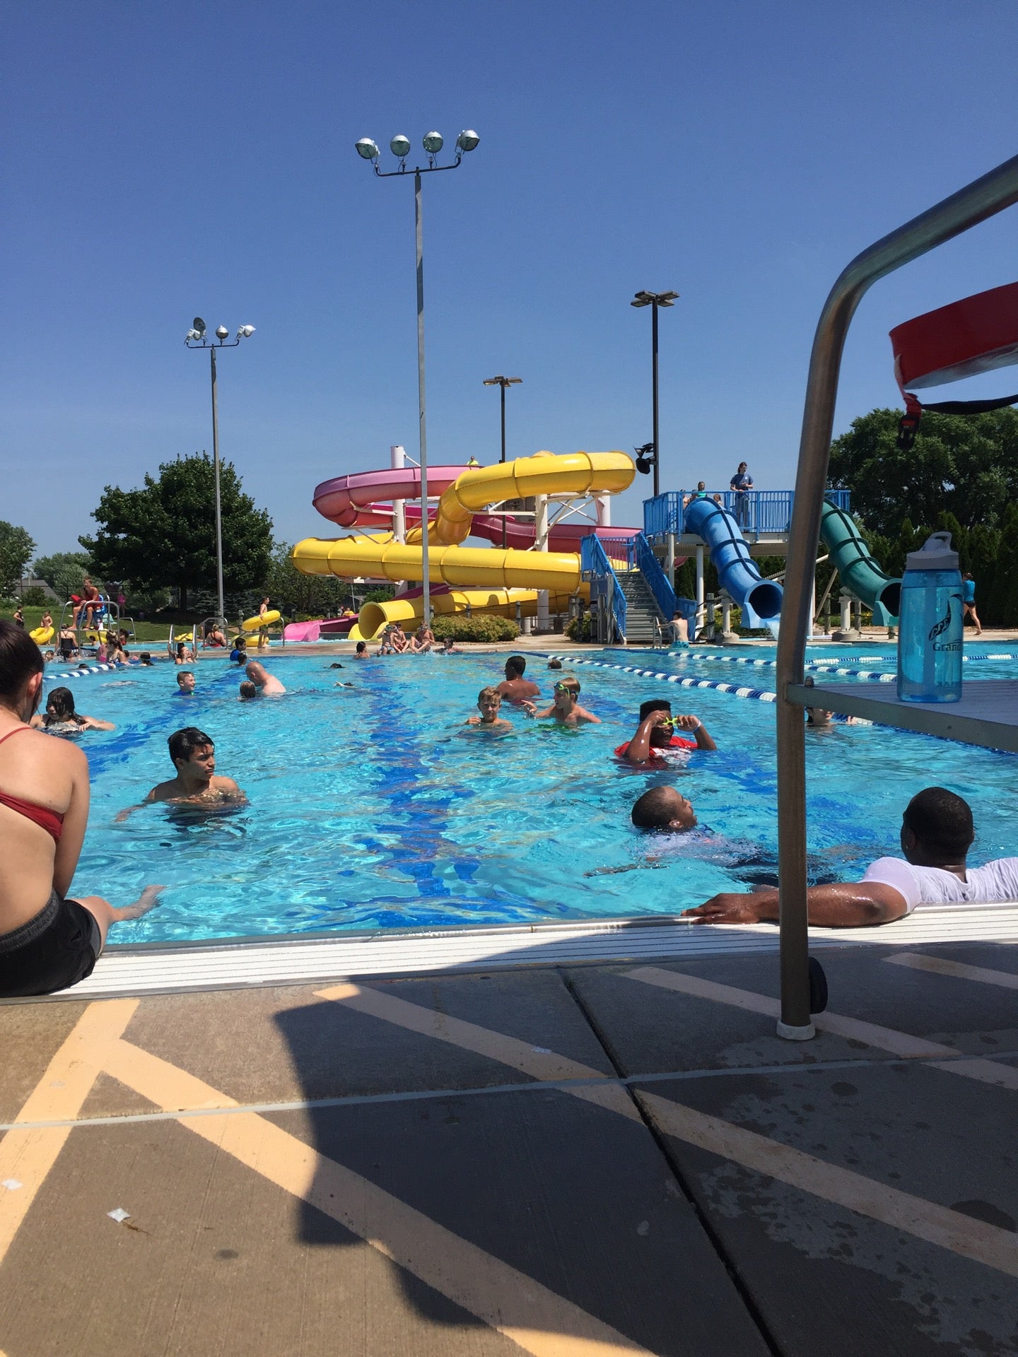
POLYGON ((1015 1352, 1018 953, 867 932, 5 1004, 0 1352, 1015 1352))

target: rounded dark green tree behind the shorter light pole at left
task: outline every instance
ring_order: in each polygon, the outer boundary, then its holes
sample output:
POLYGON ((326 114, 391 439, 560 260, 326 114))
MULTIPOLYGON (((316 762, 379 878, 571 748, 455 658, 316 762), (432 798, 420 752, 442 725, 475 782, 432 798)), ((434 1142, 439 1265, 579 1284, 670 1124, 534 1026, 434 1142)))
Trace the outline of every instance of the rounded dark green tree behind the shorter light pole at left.
MULTIPOLYGON (((271 556, 271 518, 220 463, 223 581, 233 593, 265 588, 271 556)), ((79 537, 95 571, 141 589, 175 588, 181 608, 190 589, 216 588, 216 489, 212 459, 195 453, 163 463, 159 479, 140 490, 106 486, 92 517, 95 537, 79 537)))

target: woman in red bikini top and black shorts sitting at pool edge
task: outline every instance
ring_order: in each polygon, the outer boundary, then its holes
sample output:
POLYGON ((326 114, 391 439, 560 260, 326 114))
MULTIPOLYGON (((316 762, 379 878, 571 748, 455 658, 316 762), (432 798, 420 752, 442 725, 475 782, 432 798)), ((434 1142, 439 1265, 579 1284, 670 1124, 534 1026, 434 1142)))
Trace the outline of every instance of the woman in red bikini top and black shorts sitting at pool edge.
POLYGON ((0 622, 0 997, 48 995, 91 974, 110 924, 151 909, 145 886, 115 909, 68 900, 88 821, 88 763, 29 722, 42 695, 42 653, 0 622))

